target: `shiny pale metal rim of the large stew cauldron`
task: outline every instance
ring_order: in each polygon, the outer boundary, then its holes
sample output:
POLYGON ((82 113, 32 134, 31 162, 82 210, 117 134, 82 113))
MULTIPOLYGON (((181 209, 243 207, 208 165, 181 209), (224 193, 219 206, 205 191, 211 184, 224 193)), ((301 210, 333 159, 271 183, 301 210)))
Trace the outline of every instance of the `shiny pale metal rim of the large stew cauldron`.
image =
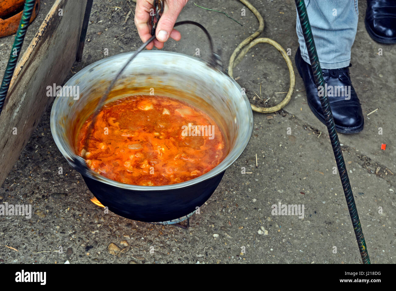
MULTIPOLYGON (((84 72, 91 70, 92 68, 94 68, 97 65, 101 65, 102 63, 108 62, 111 59, 116 59, 122 55, 131 55, 135 53, 134 51, 131 52, 126 52, 126 53, 120 53, 118 55, 114 55, 111 57, 107 57, 105 59, 101 59, 99 61, 96 61, 95 63, 92 63, 90 65, 88 65, 87 67, 83 68, 82 70, 80 70, 77 74, 75 74, 74 76, 72 76, 72 78, 70 78, 64 86, 70 86, 71 84, 74 84, 74 81, 76 79, 79 78, 79 76, 81 74, 84 74, 84 72)), ((139 55, 137 55, 136 58, 139 58, 139 56, 141 54, 164 54, 164 55, 177 55, 181 58, 188 58, 189 61, 192 62, 198 62, 198 63, 205 63, 204 61, 198 59, 198 58, 194 58, 182 53, 176 53, 176 52, 171 52, 171 51, 141 51, 139 53, 139 55)), ((133 61, 131 62, 133 63, 133 61)), ((205 63, 205 65, 208 66, 208 68, 210 68, 211 70, 214 70, 213 68, 209 67, 209 65, 207 63, 205 63)), ((128 68, 128 67, 127 67, 128 68)), ((125 74, 125 73, 124 73, 125 74)), ((220 70, 218 70, 218 74, 220 74, 220 76, 222 76, 223 78, 228 78, 228 80, 230 80, 239 90, 240 92, 242 92, 242 88, 239 86, 239 84, 233 80, 232 78, 230 78, 225 72, 222 72, 220 70)), ((111 179, 108 179, 98 173, 96 173, 95 171, 93 171, 92 169, 90 169, 87 166, 88 169, 88 177, 91 177, 99 182, 105 183, 105 184, 109 184, 111 186, 115 186, 118 188, 123 188, 123 189, 127 189, 127 190, 139 190, 139 191, 163 191, 163 190, 172 190, 172 189, 179 189, 179 188, 186 188, 189 186, 192 186, 194 184, 198 184, 200 182, 203 182, 205 180, 208 180, 212 177, 215 177, 216 175, 222 173, 223 171, 225 171, 230 165, 232 165, 238 158, 239 156, 244 152, 247 144, 249 143, 251 134, 253 132, 253 112, 251 110, 251 105, 249 103, 249 100, 247 99, 246 95, 240 95, 244 101, 244 104, 246 105, 247 108, 247 114, 248 119, 249 119, 249 128, 250 131, 247 131, 244 133, 244 142, 240 145, 238 145, 238 151, 235 150, 235 148, 231 148, 230 152, 228 152, 227 156, 225 157, 225 159, 216 167, 214 167, 213 169, 211 169, 210 171, 208 171, 207 173, 205 173, 204 175, 201 175, 197 178, 188 180, 186 182, 182 182, 182 183, 177 183, 177 184, 170 184, 170 185, 164 185, 164 186, 139 186, 139 185, 132 185, 132 184, 125 184, 125 183, 121 183, 118 181, 114 181, 111 179), (232 153, 232 155, 231 155, 232 153)), ((55 141, 55 144, 57 145, 57 147, 59 148, 59 151, 61 152, 61 154, 66 158, 66 160, 69 162, 70 165, 74 165, 73 161, 76 160, 76 158, 78 157, 76 154, 74 154, 74 152, 70 151, 69 147, 67 145, 64 144, 64 142, 61 140, 61 138, 59 137, 59 134, 57 134, 57 130, 56 130, 56 126, 55 126, 55 108, 56 108, 56 104, 58 102, 62 102, 65 99, 62 99, 62 97, 57 96, 55 98, 55 101, 53 103, 52 109, 51 109, 51 117, 50 117, 50 126, 51 126, 51 133, 52 133, 52 137, 55 141)), ((63 101, 66 102, 66 101, 63 101)))

